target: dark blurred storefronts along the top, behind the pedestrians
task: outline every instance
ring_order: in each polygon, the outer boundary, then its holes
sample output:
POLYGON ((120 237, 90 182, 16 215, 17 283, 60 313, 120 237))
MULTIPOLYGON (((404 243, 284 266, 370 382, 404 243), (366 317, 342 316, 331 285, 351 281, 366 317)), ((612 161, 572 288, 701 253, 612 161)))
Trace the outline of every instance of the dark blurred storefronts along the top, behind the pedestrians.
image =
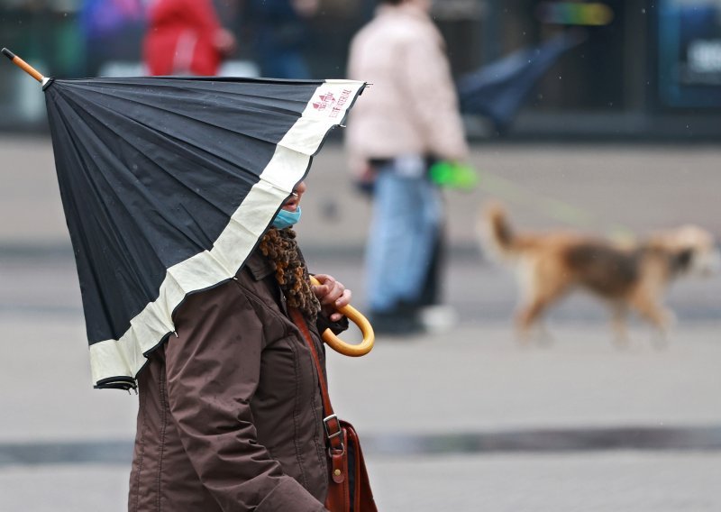
MULTIPOLYGON (((0 0, 0 45, 48 76, 141 72, 149 1, 0 0)), ((239 65, 253 59, 243 1, 216 1, 242 42, 239 65)), ((315 77, 341 78, 351 36, 375 2, 320 1, 306 58, 315 77)), ((721 137, 721 0, 436 0, 434 19, 459 78, 561 32, 583 32, 585 41, 534 84, 508 138, 721 137)), ((43 102, 31 78, 0 66, 0 129, 42 130, 43 102)), ((479 116, 469 128, 495 136, 479 116)))

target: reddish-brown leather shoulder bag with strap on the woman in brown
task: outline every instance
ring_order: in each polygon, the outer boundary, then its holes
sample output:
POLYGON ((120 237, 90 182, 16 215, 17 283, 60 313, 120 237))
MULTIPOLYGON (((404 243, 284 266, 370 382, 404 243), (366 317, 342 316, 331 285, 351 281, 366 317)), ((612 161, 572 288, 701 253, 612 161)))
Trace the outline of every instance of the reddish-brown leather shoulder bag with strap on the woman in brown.
POLYGON ((363 452, 360 450, 360 440, 353 425, 338 419, 333 413, 331 398, 325 385, 323 367, 315 343, 311 338, 306 319, 296 308, 289 308, 290 316, 297 325, 306 344, 313 354, 315 370, 318 374, 318 385, 323 398, 323 411, 325 434, 328 444, 328 496, 325 498, 325 507, 331 512, 378 512, 373 492, 370 490, 370 480, 363 452))

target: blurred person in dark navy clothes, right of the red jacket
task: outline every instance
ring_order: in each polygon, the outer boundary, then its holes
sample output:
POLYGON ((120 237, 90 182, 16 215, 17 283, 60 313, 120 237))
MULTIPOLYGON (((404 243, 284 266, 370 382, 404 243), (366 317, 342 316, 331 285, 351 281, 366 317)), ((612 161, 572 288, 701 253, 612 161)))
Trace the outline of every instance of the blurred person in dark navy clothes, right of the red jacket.
POLYGON ((267 78, 311 78, 303 51, 310 35, 308 23, 320 0, 246 1, 260 74, 267 78))

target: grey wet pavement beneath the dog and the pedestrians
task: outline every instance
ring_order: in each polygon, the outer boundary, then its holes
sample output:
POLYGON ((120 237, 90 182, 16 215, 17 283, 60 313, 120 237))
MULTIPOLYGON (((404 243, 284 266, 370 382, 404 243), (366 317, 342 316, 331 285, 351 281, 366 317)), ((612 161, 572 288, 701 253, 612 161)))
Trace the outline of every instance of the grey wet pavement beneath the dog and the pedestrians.
MULTIPOLYGON (((634 322, 619 350, 583 296, 552 312, 552 343, 521 346, 514 279, 471 227, 493 196, 529 228, 628 236, 695 222, 721 235, 721 149, 482 144, 473 161, 479 189, 447 196, 457 323, 379 337, 360 359, 329 354, 334 407, 360 432, 380 509, 721 510, 721 276, 671 287, 679 323, 663 348, 634 322)), ((137 398, 91 389, 49 141, 0 138, 0 162, 0 510, 123 510, 137 398)), ((309 265, 362 311, 370 207, 340 147, 324 148, 308 184, 309 265)))

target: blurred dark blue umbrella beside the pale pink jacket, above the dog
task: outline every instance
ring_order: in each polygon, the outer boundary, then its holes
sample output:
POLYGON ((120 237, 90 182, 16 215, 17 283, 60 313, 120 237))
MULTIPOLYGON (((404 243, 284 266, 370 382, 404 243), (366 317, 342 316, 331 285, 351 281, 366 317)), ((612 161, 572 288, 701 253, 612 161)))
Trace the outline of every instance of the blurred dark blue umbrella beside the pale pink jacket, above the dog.
POLYGON ((586 37, 585 32, 562 32, 539 46, 517 50, 459 78, 461 112, 487 115, 499 133, 505 132, 543 73, 586 37))

